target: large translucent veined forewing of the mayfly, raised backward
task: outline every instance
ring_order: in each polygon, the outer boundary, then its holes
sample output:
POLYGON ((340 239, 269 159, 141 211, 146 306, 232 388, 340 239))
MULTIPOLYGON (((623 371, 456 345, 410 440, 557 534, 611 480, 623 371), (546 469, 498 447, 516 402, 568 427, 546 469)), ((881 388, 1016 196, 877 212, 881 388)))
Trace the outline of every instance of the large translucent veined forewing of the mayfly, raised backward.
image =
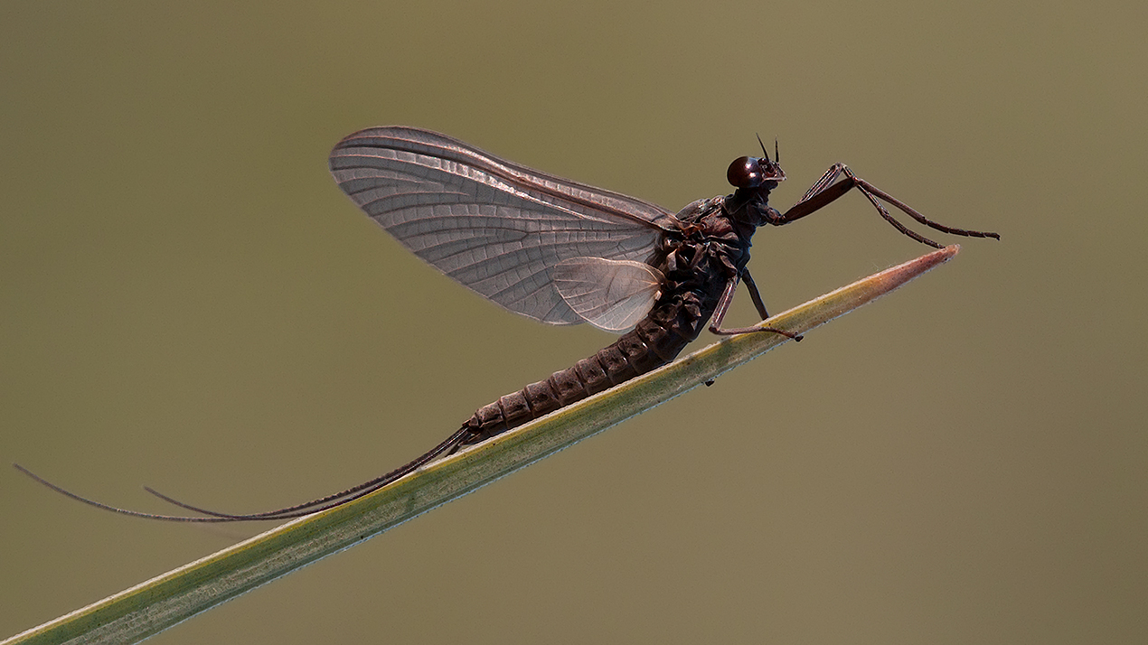
POLYGON ((565 259, 645 262, 676 219, 653 204, 559 179, 450 137, 375 127, 331 153, 339 187, 406 248, 502 306, 582 321, 553 285, 565 259))

